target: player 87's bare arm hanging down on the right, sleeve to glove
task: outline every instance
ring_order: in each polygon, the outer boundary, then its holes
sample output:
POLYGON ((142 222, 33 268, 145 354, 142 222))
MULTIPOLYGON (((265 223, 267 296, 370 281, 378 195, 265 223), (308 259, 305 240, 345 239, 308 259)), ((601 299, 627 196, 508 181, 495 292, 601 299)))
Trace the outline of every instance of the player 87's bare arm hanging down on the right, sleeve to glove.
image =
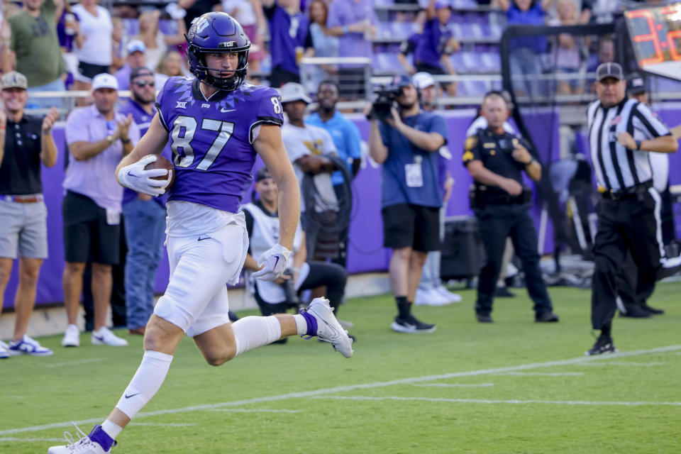
POLYGON ((279 126, 262 125, 253 149, 262 157, 279 188, 279 244, 292 250, 300 219, 300 189, 279 126))

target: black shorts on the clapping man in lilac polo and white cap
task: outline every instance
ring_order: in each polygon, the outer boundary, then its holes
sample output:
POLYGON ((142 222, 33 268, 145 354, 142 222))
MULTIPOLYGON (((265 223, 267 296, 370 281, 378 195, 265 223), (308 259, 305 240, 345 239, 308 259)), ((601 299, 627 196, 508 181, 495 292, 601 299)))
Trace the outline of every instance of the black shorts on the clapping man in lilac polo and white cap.
POLYGON ((88 196, 67 191, 62 201, 62 216, 67 262, 118 265, 121 224, 110 226, 105 209, 88 196))

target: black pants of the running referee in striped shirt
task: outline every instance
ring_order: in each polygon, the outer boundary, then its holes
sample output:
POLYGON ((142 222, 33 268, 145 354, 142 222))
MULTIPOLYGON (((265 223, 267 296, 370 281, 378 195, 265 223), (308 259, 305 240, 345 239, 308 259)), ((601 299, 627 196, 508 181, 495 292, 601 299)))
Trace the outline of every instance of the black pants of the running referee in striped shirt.
MULTIPOLYGON (((655 289, 660 268, 655 208, 658 200, 641 190, 629 199, 602 199, 597 206, 598 231, 594 242, 595 270, 591 295, 591 323, 594 329, 609 326, 616 310, 618 275, 624 273, 626 253, 638 267, 633 292, 646 301, 655 289)), ((654 192, 658 196, 657 192, 654 192)), ((633 287, 633 286, 632 286, 633 287)))

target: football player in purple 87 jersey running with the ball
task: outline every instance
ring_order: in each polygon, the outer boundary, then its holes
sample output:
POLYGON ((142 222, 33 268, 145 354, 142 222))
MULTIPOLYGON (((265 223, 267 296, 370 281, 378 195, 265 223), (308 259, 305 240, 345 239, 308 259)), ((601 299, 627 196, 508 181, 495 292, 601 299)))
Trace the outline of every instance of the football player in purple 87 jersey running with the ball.
MULTIPOLYGON (((184 333, 211 365, 287 336, 317 336, 345 358, 352 341, 328 300, 314 299, 300 314, 248 316, 231 324, 225 284, 236 284, 248 251, 239 204, 253 179, 258 153, 279 187, 279 243, 258 259, 260 279, 275 280, 287 267, 300 216, 298 182, 280 126, 275 89, 246 84, 250 42, 226 13, 196 18, 187 33, 194 77, 171 77, 157 96, 149 131, 118 165, 118 182, 151 195, 168 189, 167 250, 170 282, 144 335, 145 353, 109 418, 88 436, 48 454, 104 454, 160 388, 184 333), (165 169, 145 170, 168 140, 175 184, 165 169)), ((69 441, 69 438, 67 438, 69 441)))

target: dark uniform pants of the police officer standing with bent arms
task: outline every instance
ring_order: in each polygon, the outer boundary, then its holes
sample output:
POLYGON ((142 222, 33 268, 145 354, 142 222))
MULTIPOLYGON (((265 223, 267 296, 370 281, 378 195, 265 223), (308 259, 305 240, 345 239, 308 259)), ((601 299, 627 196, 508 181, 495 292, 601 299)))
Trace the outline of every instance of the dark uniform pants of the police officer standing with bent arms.
POLYGON ((510 204, 488 205, 475 211, 486 254, 486 262, 480 270, 477 284, 475 301, 477 314, 487 315, 492 312, 494 289, 497 288, 506 238, 509 236, 513 241, 516 255, 522 262, 527 290, 534 301, 534 311, 541 315, 553 310, 546 282, 541 277, 539 269, 537 232, 529 210, 528 204, 510 204))

